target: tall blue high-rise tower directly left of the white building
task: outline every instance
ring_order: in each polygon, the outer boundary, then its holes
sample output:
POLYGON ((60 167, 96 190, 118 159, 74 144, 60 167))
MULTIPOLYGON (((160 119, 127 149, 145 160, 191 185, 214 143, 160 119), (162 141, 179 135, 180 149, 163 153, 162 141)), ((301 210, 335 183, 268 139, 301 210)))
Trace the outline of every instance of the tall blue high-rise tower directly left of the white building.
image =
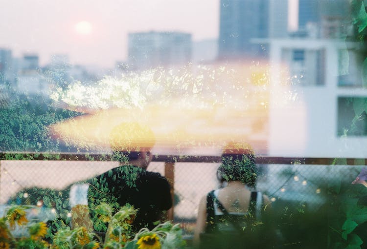
POLYGON ((269 0, 220 1, 220 60, 263 57, 264 45, 252 39, 269 36, 269 0))

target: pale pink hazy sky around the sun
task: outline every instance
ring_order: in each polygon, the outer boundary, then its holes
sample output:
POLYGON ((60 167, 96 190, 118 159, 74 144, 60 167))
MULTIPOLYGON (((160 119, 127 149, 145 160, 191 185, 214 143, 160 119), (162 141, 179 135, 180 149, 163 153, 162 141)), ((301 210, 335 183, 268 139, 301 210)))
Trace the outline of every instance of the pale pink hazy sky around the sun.
POLYGON ((127 58, 129 32, 180 31, 216 39, 219 0, 0 0, 0 48, 14 57, 53 54, 72 64, 113 67, 127 58), (76 25, 80 23, 76 28, 76 25), (83 24, 84 23, 84 24, 83 24), (87 24, 86 24, 87 23, 87 24))

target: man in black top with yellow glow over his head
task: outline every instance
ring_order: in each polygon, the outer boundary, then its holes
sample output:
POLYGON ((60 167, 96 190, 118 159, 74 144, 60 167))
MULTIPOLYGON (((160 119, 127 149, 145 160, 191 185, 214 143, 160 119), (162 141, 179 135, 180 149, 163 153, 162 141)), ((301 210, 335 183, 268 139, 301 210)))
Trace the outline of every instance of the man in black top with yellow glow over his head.
POLYGON ((113 156, 120 166, 87 181, 88 206, 94 229, 98 227, 95 224, 101 223, 94 209, 102 202, 111 204, 115 212, 127 203, 133 205, 138 208, 132 224, 134 228, 152 229, 172 207, 168 181, 159 173, 146 171, 153 157, 150 149, 155 143, 154 134, 144 125, 123 123, 117 125, 110 135, 113 156))

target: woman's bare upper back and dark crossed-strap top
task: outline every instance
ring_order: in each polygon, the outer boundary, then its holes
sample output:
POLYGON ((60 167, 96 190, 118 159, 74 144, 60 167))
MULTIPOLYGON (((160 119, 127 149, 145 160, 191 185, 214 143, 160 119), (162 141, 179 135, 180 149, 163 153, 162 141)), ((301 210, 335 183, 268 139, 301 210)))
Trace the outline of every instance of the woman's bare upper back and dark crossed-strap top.
POLYGON ((260 192, 252 192, 240 182, 210 191, 206 196, 206 227, 200 236, 201 248, 241 248, 244 242, 253 246, 258 241, 256 222, 262 200, 260 192))

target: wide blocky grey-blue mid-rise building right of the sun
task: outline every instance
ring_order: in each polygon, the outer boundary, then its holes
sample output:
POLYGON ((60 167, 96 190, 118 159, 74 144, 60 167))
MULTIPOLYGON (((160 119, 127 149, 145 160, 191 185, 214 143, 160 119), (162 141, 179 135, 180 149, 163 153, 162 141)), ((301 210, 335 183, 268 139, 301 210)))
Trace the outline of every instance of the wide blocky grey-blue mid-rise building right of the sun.
POLYGON ((191 34, 142 32, 129 34, 128 63, 133 69, 173 66, 191 61, 191 34))

